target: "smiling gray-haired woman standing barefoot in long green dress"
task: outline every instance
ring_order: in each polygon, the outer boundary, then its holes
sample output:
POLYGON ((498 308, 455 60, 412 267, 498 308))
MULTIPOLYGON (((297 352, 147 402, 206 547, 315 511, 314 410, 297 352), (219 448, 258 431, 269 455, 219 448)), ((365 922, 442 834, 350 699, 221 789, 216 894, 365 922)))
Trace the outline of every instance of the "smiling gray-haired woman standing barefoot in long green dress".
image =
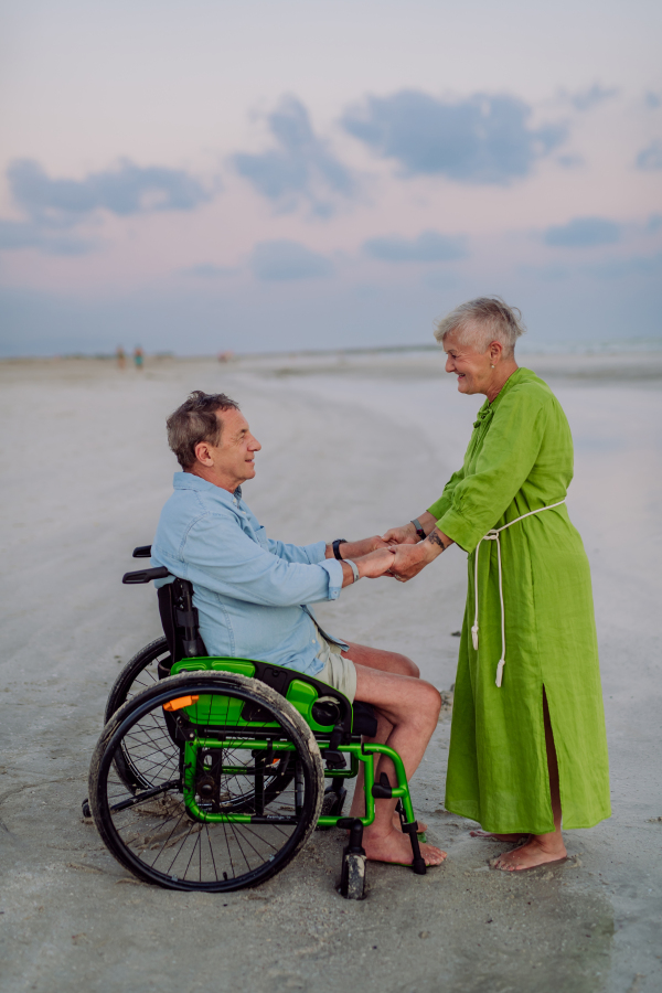
POLYGON ((562 815, 610 815, 590 572, 565 504, 573 439, 547 384, 517 367, 517 314, 479 298, 440 321, 446 371, 487 399, 440 499, 384 535, 401 581, 453 542, 468 553, 446 808, 516 843, 492 862, 505 871, 564 861, 562 815))

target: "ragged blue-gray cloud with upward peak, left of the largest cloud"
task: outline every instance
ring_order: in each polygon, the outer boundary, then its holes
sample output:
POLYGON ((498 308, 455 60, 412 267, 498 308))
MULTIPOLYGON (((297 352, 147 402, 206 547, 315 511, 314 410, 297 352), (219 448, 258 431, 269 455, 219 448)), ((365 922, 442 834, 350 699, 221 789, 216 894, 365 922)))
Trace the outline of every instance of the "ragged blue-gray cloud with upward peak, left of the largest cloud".
POLYGON ((335 213, 338 197, 352 197, 356 182, 312 130, 308 110, 295 97, 284 97, 267 115, 276 148, 258 154, 237 152, 232 162, 258 193, 278 210, 293 211, 308 204, 317 216, 335 213))

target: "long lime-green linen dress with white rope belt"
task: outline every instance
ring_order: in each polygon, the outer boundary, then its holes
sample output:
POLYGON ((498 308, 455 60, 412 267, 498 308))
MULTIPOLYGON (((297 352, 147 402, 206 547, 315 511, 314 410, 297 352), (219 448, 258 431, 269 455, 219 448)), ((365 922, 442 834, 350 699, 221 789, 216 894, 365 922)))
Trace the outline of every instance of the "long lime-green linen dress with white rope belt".
POLYGON ((543 380, 517 369, 485 401, 459 472, 429 508, 469 553, 469 587, 455 687, 446 808, 492 832, 554 831, 543 719, 547 697, 564 828, 611 813, 605 715, 588 559, 565 504, 500 534, 505 666, 496 542, 479 548, 479 647, 474 650, 478 543, 491 528, 557 503, 573 478, 573 439, 543 380))

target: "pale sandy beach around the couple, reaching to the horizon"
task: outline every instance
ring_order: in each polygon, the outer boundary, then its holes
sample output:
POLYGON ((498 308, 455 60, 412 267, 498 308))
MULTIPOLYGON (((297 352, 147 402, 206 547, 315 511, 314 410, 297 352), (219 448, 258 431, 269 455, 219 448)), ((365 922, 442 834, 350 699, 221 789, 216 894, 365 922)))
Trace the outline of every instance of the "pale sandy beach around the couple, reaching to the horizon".
MULTIPOLYGON (((482 397, 435 352, 0 363, 0 989, 2 993, 652 993, 662 987, 662 352, 533 355, 575 440, 568 508, 590 559, 612 818, 570 831, 563 866, 490 872, 500 846, 444 809, 450 706, 413 781, 447 864, 370 865, 334 884, 341 832, 255 890, 189 895, 129 877, 81 818, 121 664, 160 634, 151 587, 121 586, 177 469, 164 419, 189 391, 236 398, 263 444, 244 495, 270 536, 383 532, 456 469, 482 397)), ((318 613, 410 655, 447 692, 466 592, 457 547, 406 586, 365 580, 318 613)), ((563 618, 558 618, 563 623, 563 618)), ((501 846, 503 847, 503 846, 501 846)))

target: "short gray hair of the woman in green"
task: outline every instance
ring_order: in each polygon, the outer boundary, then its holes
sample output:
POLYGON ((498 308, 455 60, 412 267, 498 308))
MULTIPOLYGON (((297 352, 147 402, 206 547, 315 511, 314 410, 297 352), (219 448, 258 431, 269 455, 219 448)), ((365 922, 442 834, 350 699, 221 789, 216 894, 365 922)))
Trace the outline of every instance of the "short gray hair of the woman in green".
POLYGON ((461 344, 472 345, 477 352, 487 352, 490 342, 500 341, 506 359, 515 351, 515 342, 526 328, 516 307, 509 307, 501 297, 477 297, 460 303, 438 321, 435 338, 439 343, 452 331, 461 344))

